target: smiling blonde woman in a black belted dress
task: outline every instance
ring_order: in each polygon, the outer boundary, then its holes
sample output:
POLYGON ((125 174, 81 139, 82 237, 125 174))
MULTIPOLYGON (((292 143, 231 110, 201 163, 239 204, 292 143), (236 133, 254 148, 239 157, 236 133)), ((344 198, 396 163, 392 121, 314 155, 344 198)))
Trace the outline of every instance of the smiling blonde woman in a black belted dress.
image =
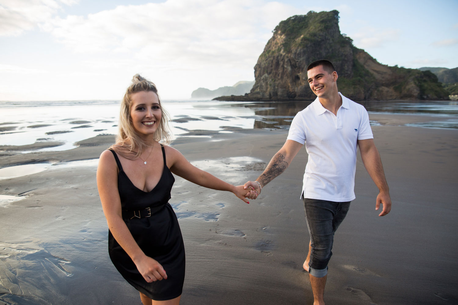
POLYGON ((172 173, 203 187, 255 198, 192 166, 170 142, 156 86, 134 75, 121 102, 116 144, 100 155, 97 186, 109 227, 109 255, 144 305, 180 303, 185 249, 168 203, 172 173))

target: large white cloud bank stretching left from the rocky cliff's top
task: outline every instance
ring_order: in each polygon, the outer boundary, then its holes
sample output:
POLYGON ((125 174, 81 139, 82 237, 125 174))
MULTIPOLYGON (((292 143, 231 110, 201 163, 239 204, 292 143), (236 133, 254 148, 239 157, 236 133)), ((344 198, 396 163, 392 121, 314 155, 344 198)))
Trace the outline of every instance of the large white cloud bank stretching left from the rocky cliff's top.
POLYGON ((274 1, 168 0, 55 17, 41 28, 79 53, 129 54, 145 64, 182 68, 252 68, 278 22, 300 13, 306 11, 274 1))

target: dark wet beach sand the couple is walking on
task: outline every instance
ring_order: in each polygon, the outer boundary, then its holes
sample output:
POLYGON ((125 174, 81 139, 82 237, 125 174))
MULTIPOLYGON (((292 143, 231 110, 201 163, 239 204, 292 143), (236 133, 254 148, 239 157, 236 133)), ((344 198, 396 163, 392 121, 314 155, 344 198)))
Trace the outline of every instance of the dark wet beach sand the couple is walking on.
MULTIPOLYGON (((372 130, 393 210, 377 216, 377 189, 358 157, 356 199, 335 235, 327 304, 457 304, 458 130, 398 126, 427 119, 371 115, 381 123, 372 130)), ((173 146, 196 166, 242 184, 261 173, 287 135, 232 130, 173 146)), ((0 168, 55 164, 0 180, 0 195, 23 198, 0 200, 0 304, 141 304, 108 257, 95 163, 69 163, 97 158, 112 140, 99 136, 59 152, 0 148, 0 168)), ((313 303, 302 269, 309 241, 299 199, 306 157, 302 149, 249 205, 176 177, 170 203, 187 260, 181 304, 313 303)))

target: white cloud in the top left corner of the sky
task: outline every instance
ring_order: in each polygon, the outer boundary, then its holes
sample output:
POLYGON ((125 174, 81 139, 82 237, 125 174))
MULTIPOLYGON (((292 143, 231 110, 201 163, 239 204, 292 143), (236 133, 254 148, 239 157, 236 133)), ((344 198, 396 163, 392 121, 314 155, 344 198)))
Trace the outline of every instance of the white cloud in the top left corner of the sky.
POLYGON ((0 0, 0 36, 18 36, 49 20, 75 0, 0 0))

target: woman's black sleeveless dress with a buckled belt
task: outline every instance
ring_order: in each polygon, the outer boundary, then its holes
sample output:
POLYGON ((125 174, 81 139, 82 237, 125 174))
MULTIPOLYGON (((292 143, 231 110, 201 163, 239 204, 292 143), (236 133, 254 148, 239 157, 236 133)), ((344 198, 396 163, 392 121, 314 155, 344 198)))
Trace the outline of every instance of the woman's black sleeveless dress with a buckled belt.
POLYGON ((119 168, 118 191, 124 222, 145 255, 162 265, 167 279, 147 283, 131 257, 108 232, 108 251, 114 267, 135 289, 158 301, 180 296, 185 280, 185 246, 180 225, 168 202, 175 178, 165 162, 164 146, 161 148, 164 170, 158 184, 149 193, 133 185, 118 156, 113 150, 111 152, 119 168))

